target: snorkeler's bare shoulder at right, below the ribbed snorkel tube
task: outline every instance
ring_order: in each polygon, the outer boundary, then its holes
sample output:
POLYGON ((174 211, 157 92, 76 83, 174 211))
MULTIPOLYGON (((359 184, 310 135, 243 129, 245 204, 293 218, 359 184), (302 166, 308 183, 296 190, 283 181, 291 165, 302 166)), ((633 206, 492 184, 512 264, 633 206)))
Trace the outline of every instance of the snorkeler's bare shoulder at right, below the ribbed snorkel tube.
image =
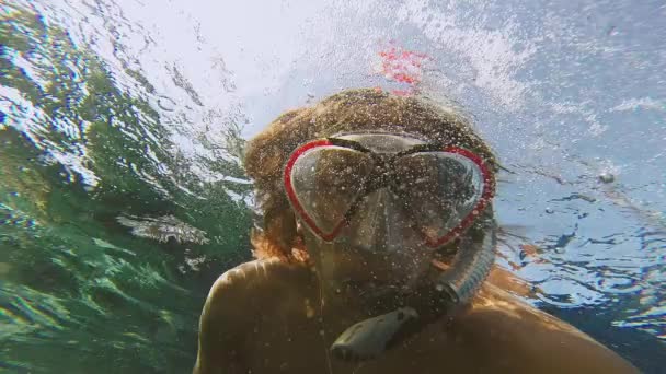
POLYGON ((453 324, 456 335, 492 362, 540 373, 638 373, 620 355, 572 325, 485 283, 453 324))

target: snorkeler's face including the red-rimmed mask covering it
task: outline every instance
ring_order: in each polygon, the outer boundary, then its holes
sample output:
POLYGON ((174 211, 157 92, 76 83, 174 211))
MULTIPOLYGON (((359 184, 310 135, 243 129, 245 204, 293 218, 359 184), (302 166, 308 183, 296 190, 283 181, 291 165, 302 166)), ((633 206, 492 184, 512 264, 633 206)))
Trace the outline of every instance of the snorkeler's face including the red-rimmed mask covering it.
POLYGON ((285 189, 321 279, 356 294, 405 292, 493 192, 468 150, 402 135, 314 140, 292 153, 285 189))

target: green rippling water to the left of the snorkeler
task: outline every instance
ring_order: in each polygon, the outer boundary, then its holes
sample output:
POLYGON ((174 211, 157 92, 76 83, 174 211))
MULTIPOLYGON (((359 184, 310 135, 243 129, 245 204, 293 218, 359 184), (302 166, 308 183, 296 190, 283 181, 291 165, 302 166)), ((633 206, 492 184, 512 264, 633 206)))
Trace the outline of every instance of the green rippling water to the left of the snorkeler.
POLYGON ((0 4, 0 367, 190 371, 207 289, 249 256, 238 128, 184 161, 140 72, 0 4))

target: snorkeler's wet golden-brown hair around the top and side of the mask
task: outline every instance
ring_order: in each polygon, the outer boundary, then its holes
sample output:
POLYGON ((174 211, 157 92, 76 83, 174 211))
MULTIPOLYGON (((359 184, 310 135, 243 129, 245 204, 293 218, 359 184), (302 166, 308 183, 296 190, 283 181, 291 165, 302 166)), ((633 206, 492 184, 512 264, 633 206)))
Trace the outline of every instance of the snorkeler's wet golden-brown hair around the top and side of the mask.
MULTIPOLYGON (((473 131, 471 119, 455 106, 374 89, 340 92, 314 106, 284 113, 248 143, 244 165, 264 213, 263 231, 252 235, 255 257, 303 258, 302 252, 295 250, 303 247, 283 186, 283 168, 291 152, 313 139, 364 130, 407 132, 466 148, 497 171, 492 151, 473 131)), ((486 212, 492 215, 492 209, 486 212)))

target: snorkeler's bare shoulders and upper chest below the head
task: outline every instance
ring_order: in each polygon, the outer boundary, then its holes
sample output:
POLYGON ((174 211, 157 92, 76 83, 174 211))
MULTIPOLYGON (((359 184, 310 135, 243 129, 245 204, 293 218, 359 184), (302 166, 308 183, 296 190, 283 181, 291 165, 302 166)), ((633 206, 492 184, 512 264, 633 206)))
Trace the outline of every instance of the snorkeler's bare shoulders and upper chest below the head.
POLYGON ((246 262, 210 290, 194 373, 638 373, 587 335, 493 283, 512 282, 494 271, 455 317, 443 317, 377 360, 347 363, 328 350, 363 317, 354 300, 329 297, 305 265, 246 262))

